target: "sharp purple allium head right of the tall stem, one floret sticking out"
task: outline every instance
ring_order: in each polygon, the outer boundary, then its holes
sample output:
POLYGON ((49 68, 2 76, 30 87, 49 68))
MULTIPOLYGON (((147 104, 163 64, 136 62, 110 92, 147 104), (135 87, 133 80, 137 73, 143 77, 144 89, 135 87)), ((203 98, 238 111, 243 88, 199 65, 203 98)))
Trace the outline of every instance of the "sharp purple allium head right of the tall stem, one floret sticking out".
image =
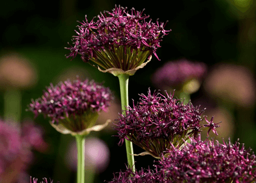
MULTIPOLYGON (((167 93, 166 93, 167 94, 167 93)), ((173 93, 174 94, 174 93, 173 93)), ((163 96, 149 90, 148 95, 140 94, 138 104, 127 107, 126 114, 120 114, 117 127, 120 142, 131 140, 152 156, 160 157, 171 147, 181 147, 189 136, 197 136, 204 127, 201 114, 204 110, 194 107, 191 102, 183 104, 173 95, 163 96)), ((211 130, 215 130, 213 126, 211 130)))

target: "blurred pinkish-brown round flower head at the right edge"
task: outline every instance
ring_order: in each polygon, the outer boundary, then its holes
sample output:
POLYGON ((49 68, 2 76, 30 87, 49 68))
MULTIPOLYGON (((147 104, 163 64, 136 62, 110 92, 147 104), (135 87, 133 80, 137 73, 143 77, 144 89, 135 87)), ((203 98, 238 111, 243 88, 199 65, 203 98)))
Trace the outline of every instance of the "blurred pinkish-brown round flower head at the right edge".
POLYGON ((205 91, 215 98, 239 106, 255 104, 256 81, 248 68, 232 64, 219 64, 213 68, 205 79, 205 91))

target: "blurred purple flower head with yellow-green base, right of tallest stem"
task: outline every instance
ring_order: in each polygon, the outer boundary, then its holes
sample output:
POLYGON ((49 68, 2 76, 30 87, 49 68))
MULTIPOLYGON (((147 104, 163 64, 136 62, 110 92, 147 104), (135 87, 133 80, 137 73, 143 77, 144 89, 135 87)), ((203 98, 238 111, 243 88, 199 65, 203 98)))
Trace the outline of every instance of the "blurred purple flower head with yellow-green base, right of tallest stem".
POLYGON ((155 71, 153 84, 159 89, 177 89, 189 94, 196 92, 207 73, 205 63, 191 62, 187 59, 169 61, 155 71))

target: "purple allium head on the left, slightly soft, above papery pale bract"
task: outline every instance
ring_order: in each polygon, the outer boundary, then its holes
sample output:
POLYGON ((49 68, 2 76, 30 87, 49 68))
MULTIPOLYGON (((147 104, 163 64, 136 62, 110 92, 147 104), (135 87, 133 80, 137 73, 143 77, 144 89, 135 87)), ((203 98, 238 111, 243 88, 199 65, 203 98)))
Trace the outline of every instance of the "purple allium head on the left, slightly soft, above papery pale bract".
POLYGON ((39 113, 48 116, 50 124, 63 134, 88 134, 91 130, 101 129, 101 126, 94 124, 99 112, 107 111, 112 99, 109 88, 77 78, 73 82, 65 81, 47 87, 41 98, 32 100, 29 110, 35 116, 39 113))

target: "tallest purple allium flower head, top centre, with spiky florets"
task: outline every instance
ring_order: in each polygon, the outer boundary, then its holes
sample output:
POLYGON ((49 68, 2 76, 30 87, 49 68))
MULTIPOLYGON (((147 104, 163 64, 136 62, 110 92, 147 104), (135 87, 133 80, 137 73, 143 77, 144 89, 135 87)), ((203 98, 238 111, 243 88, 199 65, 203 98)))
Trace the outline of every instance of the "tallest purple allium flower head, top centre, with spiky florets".
MULTIPOLYGON (((71 53, 67 57, 81 55, 85 63, 97 66, 100 71, 113 75, 126 73, 134 75, 137 69, 144 67, 156 51, 163 36, 166 23, 153 23, 143 11, 117 7, 112 12, 104 11, 91 21, 79 22, 77 35, 73 36, 71 53)), ((157 59, 159 59, 157 57, 157 59)))

